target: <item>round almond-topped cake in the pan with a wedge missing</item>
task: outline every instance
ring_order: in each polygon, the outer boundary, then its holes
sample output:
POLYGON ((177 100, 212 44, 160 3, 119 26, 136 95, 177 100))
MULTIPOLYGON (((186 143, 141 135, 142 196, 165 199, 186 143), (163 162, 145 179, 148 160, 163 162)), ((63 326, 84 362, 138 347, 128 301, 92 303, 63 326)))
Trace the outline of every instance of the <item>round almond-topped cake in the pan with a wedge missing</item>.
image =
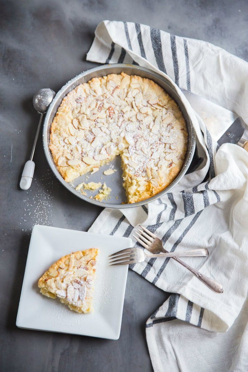
POLYGON ((187 137, 175 101, 154 81, 122 72, 93 78, 64 97, 49 148, 66 182, 120 155, 127 202, 135 203, 173 182, 187 137))

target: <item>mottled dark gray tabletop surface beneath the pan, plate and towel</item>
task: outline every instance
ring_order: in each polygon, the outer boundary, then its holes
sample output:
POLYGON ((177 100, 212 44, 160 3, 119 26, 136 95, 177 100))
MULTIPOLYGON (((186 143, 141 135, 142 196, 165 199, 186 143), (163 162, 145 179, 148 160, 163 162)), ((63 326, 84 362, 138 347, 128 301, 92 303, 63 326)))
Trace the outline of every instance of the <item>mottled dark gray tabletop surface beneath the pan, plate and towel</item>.
POLYGON ((101 212, 65 190, 39 137, 35 176, 19 189, 39 115, 36 90, 56 92, 86 62, 104 19, 144 23, 203 39, 248 61, 248 3, 230 0, 0 0, 0 371, 152 371, 145 322, 168 294, 129 270, 120 339, 22 330, 16 315, 34 224, 87 231, 101 212))

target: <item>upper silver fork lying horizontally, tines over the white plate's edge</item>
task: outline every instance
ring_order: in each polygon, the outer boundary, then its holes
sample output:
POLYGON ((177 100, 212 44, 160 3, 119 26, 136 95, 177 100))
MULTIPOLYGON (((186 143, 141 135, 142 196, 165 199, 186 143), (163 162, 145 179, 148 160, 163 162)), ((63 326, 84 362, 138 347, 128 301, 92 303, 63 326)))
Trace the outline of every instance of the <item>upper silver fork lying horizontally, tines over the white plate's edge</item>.
POLYGON ((151 257, 181 257, 181 256, 208 256, 208 250, 192 249, 190 251, 177 252, 177 253, 157 253, 147 254, 141 248, 132 247, 122 249, 121 251, 110 254, 111 265, 126 265, 131 263, 138 263, 145 261, 146 258, 151 257))

